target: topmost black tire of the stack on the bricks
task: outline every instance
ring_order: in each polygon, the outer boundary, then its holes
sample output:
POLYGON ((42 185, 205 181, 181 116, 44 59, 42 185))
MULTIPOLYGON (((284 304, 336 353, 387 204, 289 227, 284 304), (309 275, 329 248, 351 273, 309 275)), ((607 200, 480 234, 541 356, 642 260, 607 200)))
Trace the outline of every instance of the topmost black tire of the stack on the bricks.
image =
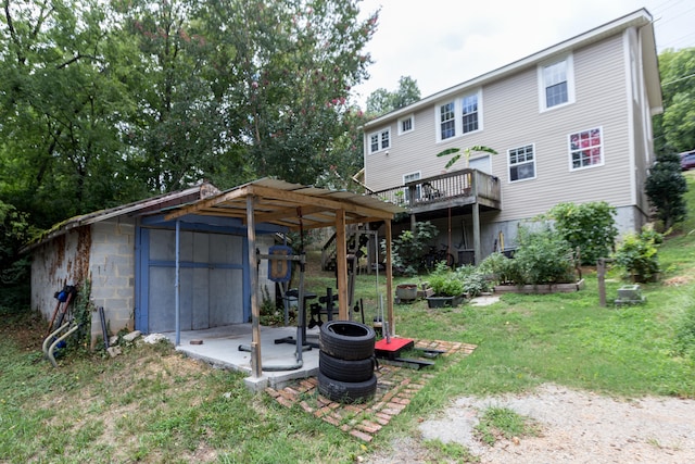
POLYGON ((374 328, 353 321, 329 321, 321 326, 318 346, 339 360, 366 360, 374 355, 374 328))

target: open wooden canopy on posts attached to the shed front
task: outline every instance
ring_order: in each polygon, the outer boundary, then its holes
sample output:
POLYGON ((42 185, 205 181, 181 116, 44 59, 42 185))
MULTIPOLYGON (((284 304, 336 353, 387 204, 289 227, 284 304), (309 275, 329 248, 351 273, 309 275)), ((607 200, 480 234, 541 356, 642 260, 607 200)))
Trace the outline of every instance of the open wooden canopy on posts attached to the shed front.
MULTIPOLYGON (((383 222, 386 227, 386 279, 387 294, 393 293, 391 272, 391 221, 395 213, 404 212, 401 206, 345 190, 328 190, 290 184, 279 179, 262 178, 223 191, 204 200, 180 206, 168 213, 167 221, 176 221, 187 215, 235 217, 245 224, 249 240, 249 268, 256 260, 256 224, 268 223, 290 230, 323 227, 336 228, 337 274, 338 274, 338 318, 348 319, 348 250, 345 226, 383 222)), ((262 375, 260 305, 255 292, 256 273, 251 274, 251 364, 253 375, 262 375)), ((387 299, 387 321, 389 333, 394 335, 393 299, 387 299)))

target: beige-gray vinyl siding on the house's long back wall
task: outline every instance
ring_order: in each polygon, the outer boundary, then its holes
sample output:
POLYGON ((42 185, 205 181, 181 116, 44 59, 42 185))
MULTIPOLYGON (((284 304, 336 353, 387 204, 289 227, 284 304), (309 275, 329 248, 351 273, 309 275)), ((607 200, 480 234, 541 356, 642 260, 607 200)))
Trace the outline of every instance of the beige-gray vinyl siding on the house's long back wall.
MULTIPOLYGON (((629 125, 632 92, 623 43, 623 35, 615 35, 573 51, 572 104, 541 112, 538 70, 531 66, 484 85, 482 129, 476 133, 437 142, 437 106, 451 98, 416 112, 415 130, 409 134, 399 136, 394 121, 389 154, 365 156, 367 185, 380 190, 400 185, 404 173, 420 171, 422 177, 441 174, 447 160, 437 158, 438 152, 483 145, 498 152, 492 156, 492 174, 501 179, 503 210, 495 214, 495 221, 531 217, 564 201, 633 204, 630 136, 634 130, 629 125), (605 164, 570 171, 568 135, 595 127, 602 128, 605 164), (535 179, 509 183, 507 150, 531 143, 535 146, 535 179)), ((459 160, 452 171, 463 167, 464 160, 459 160)))

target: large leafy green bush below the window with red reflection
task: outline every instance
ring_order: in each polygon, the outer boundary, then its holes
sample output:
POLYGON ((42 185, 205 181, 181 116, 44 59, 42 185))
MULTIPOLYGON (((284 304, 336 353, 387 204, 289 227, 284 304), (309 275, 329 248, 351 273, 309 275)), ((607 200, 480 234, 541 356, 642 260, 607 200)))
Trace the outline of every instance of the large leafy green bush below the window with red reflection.
POLYGON ((546 214, 555 221, 555 229, 572 249, 579 248, 582 264, 595 264, 610 255, 618 229, 615 206, 605 201, 558 203, 546 214))

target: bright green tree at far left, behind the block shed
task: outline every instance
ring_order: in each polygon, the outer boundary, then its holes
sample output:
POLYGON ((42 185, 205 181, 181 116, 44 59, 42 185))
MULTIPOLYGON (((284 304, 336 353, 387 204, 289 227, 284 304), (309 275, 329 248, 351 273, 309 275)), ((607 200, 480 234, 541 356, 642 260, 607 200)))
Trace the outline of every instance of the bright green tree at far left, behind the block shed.
POLYGON ((97 0, 3 2, 0 187, 49 225, 110 204, 127 89, 97 0))

